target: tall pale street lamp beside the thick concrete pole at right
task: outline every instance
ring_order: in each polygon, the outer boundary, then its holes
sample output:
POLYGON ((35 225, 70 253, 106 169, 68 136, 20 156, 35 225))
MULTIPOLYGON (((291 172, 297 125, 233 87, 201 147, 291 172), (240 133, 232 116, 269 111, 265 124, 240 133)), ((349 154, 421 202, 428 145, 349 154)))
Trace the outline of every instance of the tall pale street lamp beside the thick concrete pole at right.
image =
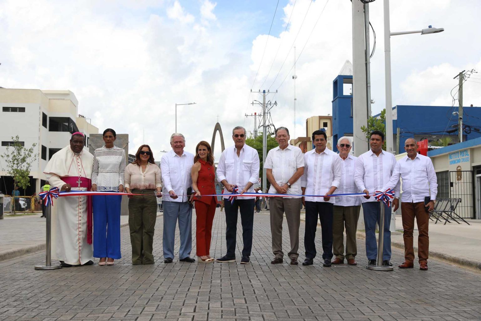
POLYGON ((384 0, 384 70, 386 83, 386 151, 393 153, 392 141, 392 85, 391 85, 391 36, 407 35, 411 33, 420 33, 428 35, 444 31, 444 28, 433 28, 429 26, 426 29, 416 31, 391 32, 389 22, 389 0, 384 0))

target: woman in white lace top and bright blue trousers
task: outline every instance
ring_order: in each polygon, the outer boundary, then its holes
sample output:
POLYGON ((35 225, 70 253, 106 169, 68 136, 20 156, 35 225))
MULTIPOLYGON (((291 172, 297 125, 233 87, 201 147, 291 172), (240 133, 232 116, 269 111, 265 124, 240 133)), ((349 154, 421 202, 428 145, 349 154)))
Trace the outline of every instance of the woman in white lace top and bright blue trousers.
MULTIPOLYGON (((105 145, 93 154, 92 192, 124 192, 125 151, 114 146, 115 130, 103 131, 105 145)), ((94 195, 93 256, 99 265, 114 265, 120 254, 120 203, 122 195, 94 195)))

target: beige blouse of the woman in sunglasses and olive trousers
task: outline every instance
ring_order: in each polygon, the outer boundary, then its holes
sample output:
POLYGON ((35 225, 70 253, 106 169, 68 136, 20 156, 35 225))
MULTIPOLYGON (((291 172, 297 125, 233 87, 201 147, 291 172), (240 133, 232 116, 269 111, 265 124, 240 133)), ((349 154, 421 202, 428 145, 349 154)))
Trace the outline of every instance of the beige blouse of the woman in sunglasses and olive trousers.
POLYGON ((155 190, 162 188, 162 176, 160 168, 154 164, 147 163, 145 172, 142 167, 135 164, 128 164, 125 168, 125 188, 130 190, 155 190))

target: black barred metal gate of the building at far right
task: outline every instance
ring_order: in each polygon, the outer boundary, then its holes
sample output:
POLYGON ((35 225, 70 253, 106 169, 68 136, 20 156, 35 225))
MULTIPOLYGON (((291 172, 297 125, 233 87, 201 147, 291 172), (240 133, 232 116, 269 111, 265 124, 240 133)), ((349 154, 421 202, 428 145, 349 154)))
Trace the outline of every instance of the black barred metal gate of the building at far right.
MULTIPOLYGON (((441 172, 443 173, 443 172, 441 172)), ((440 192, 442 187, 438 176, 438 196, 444 197, 440 192)), ((443 183, 443 186, 446 186, 443 183)), ((462 218, 474 218, 474 180, 472 170, 457 170, 449 172, 449 197, 460 198, 461 203, 456 208, 456 214, 462 218)))

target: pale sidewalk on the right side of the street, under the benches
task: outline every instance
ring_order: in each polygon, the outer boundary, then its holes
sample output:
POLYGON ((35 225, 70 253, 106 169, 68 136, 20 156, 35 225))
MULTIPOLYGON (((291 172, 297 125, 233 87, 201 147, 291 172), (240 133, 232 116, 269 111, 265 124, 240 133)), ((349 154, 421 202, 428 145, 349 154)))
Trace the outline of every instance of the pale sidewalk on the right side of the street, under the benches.
MULTIPOLYGON (((304 221, 304 211, 301 212, 301 220, 304 221)), ((429 222, 429 256, 454 263, 458 266, 481 270, 481 220, 466 219, 469 222, 457 224, 429 222)), ((319 223, 318 223, 319 225, 319 223)), ((320 226, 320 225, 319 225, 320 226)), ((396 216, 396 230, 402 230, 401 216, 396 216)), ((414 253, 418 259, 418 226, 414 225, 414 253)), ((357 231, 357 238, 364 240, 364 231, 357 231)), ((359 241, 358 241, 359 244, 359 241)), ((391 233, 391 245, 404 251, 402 232, 391 233)), ((365 256, 365 253, 358 252, 365 256)))

